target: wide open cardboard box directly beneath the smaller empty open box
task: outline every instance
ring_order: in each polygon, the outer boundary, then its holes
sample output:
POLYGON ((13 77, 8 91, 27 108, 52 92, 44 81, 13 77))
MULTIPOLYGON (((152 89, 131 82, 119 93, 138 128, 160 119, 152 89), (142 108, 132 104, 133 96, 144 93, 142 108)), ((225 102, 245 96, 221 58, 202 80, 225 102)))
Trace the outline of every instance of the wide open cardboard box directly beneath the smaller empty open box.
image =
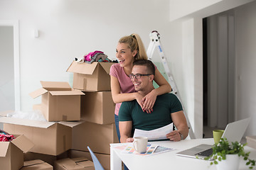
POLYGON ((23 134, 34 143, 31 152, 58 155, 72 146, 72 128, 81 122, 44 122, 20 118, 0 117, 4 130, 23 134))

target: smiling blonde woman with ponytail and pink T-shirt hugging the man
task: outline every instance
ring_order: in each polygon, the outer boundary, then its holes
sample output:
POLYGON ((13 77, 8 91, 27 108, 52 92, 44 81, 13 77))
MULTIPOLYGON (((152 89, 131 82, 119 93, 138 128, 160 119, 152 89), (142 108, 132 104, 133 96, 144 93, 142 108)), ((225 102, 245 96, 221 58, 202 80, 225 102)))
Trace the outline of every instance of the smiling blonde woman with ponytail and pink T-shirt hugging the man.
POLYGON ((141 38, 137 34, 124 36, 117 44, 116 57, 119 63, 112 64, 110 67, 111 93, 114 103, 116 103, 114 111, 114 121, 117 128, 118 139, 119 134, 119 120, 118 112, 123 101, 137 100, 143 111, 151 113, 156 101, 156 96, 171 92, 171 86, 164 79, 158 69, 154 76, 154 81, 159 85, 159 88, 152 90, 146 96, 135 91, 129 74, 132 73, 132 66, 135 60, 147 60, 146 50, 141 38))

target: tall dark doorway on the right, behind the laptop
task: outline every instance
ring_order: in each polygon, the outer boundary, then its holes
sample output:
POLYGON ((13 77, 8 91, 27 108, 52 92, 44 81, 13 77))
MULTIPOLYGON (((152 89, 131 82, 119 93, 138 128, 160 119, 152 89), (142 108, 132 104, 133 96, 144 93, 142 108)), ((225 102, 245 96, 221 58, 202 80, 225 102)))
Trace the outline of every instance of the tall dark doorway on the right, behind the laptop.
POLYGON ((235 120, 235 18, 229 10, 203 18, 203 134, 235 120))

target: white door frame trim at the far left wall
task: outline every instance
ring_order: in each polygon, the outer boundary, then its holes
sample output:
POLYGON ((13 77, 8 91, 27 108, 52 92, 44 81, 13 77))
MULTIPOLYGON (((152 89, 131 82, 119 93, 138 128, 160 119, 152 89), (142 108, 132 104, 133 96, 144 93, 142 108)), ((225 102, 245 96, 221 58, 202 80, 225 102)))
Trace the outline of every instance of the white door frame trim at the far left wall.
POLYGON ((0 20, 0 26, 14 27, 14 98, 15 111, 21 111, 21 83, 19 57, 19 26, 18 20, 0 20))

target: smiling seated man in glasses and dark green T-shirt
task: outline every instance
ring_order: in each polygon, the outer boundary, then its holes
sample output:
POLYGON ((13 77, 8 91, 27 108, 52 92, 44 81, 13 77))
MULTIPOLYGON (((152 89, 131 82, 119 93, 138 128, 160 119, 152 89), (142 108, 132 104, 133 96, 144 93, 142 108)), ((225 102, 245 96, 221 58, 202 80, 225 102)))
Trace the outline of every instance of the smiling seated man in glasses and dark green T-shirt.
MULTIPOLYGON (((135 90, 142 95, 149 94, 154 89, 155 67, 149 60, 137 60, 134 62, 132 79, 135 90)), ((133 142, 135 129, 154 130, 174 123, 177 130, 166 134, 167 139, 180 141, 188 136, 188 125, 182 111, 181 102, 174 94, 163 94, 156 97, 153 111, 142 111, 136 100, 122 103, 119 110, 120 142, 133 142)))

